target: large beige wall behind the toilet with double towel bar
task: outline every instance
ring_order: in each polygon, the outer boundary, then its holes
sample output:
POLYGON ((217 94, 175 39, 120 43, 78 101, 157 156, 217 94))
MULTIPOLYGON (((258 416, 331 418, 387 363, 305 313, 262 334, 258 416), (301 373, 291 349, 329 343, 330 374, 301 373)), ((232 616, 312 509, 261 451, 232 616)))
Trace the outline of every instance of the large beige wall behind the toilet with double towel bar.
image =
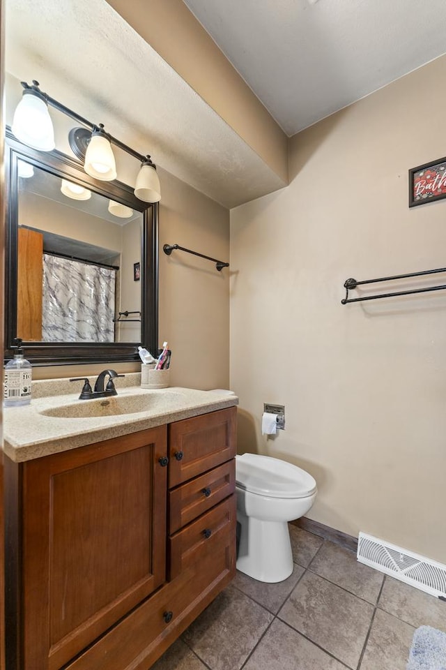
POLYGON ((408 168, 445 154, 445 76, 443 57, 296 135, 290 186, 231 211, 240 452, 311 472, 312 519, 443 563, 446 292, 341 298, 348 277, 446 265, 446 201, 408 209, 408 168), (286 408, 274 439, 264 402, 286 408))

